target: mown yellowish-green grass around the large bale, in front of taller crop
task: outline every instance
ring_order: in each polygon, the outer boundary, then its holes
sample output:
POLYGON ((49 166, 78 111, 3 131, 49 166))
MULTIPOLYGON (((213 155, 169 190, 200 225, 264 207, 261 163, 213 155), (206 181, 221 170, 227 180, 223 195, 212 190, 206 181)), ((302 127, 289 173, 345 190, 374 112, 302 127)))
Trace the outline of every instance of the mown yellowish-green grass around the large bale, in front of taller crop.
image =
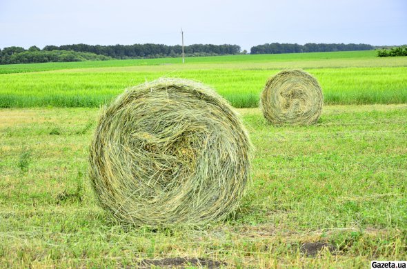
POLYGON ((223 223, 124 227, 87 177, 97 109, 0 110, 0 267, 126 267, 199 257, 230 267, 366 268, 407 257, 407 106, 324 106, 319 123, 270 126, 239 110, 254 183, 223 223), (315 256, 304 243, 327 243, 315 256))

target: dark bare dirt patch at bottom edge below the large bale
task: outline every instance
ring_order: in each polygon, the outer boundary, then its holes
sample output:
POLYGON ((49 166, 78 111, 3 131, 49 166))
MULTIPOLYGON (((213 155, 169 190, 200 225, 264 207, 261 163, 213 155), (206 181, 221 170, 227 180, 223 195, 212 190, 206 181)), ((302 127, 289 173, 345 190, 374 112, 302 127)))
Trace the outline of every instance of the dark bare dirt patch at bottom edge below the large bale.
POLYGON ((197 266, 199 268, 221 268, 227 266, 224 261, 215 261, 211 259, 196 259, 196 258, 165 258, 165 259, 145 259, 137 264, 137 268, 151 268, 157 266, 159 268, 186 268, 189 266, 197 266))

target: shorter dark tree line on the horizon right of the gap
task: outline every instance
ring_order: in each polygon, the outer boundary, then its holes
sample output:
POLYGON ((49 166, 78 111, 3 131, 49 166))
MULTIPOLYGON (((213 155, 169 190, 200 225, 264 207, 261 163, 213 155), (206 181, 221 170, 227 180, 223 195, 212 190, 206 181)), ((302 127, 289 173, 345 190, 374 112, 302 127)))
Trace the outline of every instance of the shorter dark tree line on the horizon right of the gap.
POLYGON ((300 52, 335 52, 350 50, 373 50, 375 47, 368 44, 344 44, 344 43, 266 43, 254 46, 250 49, 250 54, 279 54, 279 53, 300 53, 300 52))

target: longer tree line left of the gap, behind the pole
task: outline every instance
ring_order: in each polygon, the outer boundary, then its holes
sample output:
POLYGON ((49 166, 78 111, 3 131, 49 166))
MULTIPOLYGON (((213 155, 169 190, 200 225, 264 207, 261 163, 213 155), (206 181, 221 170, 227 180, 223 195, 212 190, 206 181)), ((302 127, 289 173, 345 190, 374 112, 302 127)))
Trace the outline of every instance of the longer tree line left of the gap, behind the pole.
MULTIPOLYGON (((228 44, 194 44, 184 47, 186 57, 239 54, 240 50, 240 46, 228 44)), ((114 46, 50 45, 45 46, 42 50, 37 46, 31 46, 28 50, 12 46, 0 50, 0 64, 181 57, 181 54, 182 47, 180 45, 167 46, 151 43, 114 46)))

